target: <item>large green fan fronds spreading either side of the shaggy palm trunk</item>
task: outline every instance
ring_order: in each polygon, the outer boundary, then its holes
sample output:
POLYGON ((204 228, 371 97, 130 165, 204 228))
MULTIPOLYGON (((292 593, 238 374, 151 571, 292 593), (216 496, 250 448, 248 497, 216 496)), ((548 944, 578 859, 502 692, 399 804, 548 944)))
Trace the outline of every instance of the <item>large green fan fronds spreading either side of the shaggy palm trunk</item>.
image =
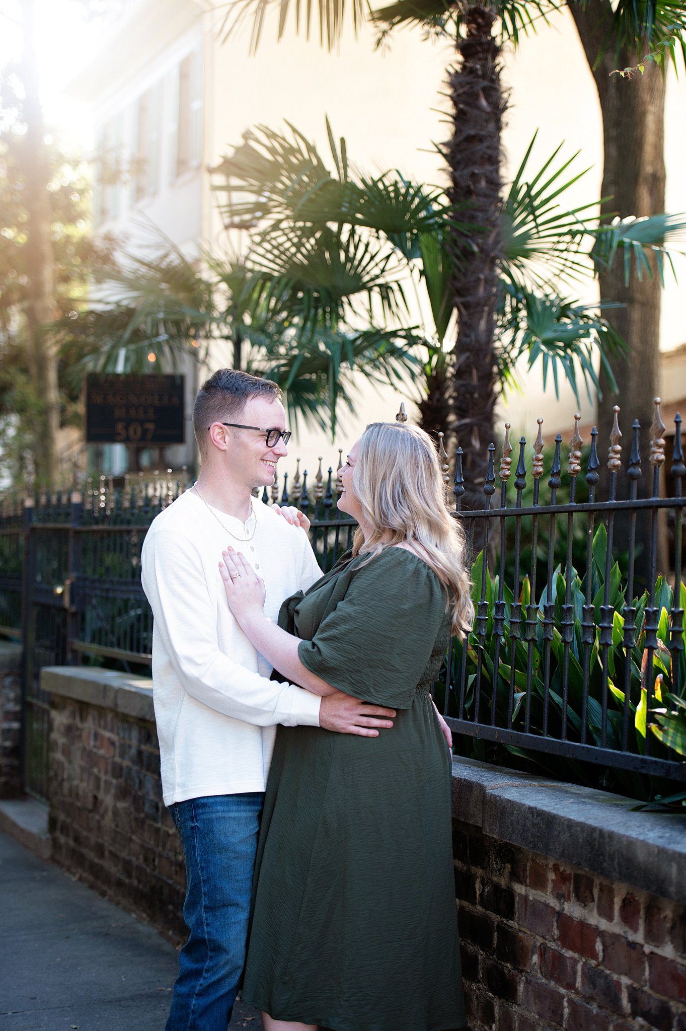
MULTIPOLYGON (((404 313, 407 291, 423 289, 433 325, 422 330, 419 407, 425 429, 445 429, 457 403, 465 403, 455 397, 459 387, 454 371, 462 361, 462 311, 457 313, 455 340, 451 290, 457 276, 469 274, 469 241, 482 230, 470 221, 471 207, 456 209, 438 188, 423 188, 397 170, 376 177, 355 174, 345 140, 337 146, 329 124, 327 129, 331 168, 315 144, 293 126, 283 133, 259 127, 247 134, 242 145, 213 170, 221 176, 214 190, 226 196, 225 224, 251 230, 246 262, 265 289, 278 296, 282 308, 293 312, 305 345, 309 326, 321 324, 336 332, 341 319, 345 321, 346 306, 351 308, 348 321, 356 315, 377 334, 396 332, 386 328, 387 320, 379 321, 379 313, 395 322, 404 313), (465 255, 456 253, 456 241, 465 255), (358 254, 373 255, 384 269, 378 282, 373 277, 357 278, 358 254), (396 271, 388 279, 391 267, 396 271), (400 277, 402 268, 405 280, 400 277), (378 302, 370 302, 366 311, 354 307, 363 291, 378 302)), ((686 229, 686 221, 665 217, 641 223, 601 221, 597 202, 568 209, 564 192, 583 172, 570 171, 574 158, 558 160, 559 147, 533 171, 533 146, 534 140, 499 210, 488 392, 483 379, 471 385, 472 402, 465 407, 472 434, 464 432, 464 425, 457 427, 475 502, 479 500, 475 463, 482 459, 483 448, 474 439, 473 427, 478 419, 477 427, 483 425, 492 434, 492 405, 511 385, 520 358, 525 357, 529 366, 542 364, 544 386, 550 377, 557 390, 563 376, 579 397, 579 378, 590 397, 599 390, 595 371, 599 355, 613 384, 609 359, 623 348, 623 341, 605 317, 603 309, 611 306, 583 305, 562 297, 560 285, 576 288, 597 267, 611 267, 623 251, 640 267, 646 262, 645 247, 662 261, 662 240, 686 229), (474 410, 479 409, 477 389, 490 404, 485 413, 474 410)), ((416 344, 416 328, 408 331, 416 344)))

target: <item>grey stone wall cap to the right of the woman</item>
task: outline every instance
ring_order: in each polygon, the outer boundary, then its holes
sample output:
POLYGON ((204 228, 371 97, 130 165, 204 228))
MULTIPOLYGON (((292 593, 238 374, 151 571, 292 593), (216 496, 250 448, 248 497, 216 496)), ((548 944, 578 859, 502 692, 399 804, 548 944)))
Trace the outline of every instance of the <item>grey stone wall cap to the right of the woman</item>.
POLYGON ((489 837, 686 902, 686 814, 471 759, 452 777, 453 817, 489 837))

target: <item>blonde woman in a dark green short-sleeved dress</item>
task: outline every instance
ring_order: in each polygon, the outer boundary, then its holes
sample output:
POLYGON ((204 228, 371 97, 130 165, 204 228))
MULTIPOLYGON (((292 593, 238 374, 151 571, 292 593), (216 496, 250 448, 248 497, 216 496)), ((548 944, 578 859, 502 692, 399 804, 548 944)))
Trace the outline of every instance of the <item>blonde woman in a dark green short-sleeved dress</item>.
POLYGON ((284 677, 397 710, 374 740, 278 728, 243 998, 266 1031, 449 1031, 465 1025, 450 755, 428 689, 473 616, 462 536, 415 427, 369 426, 341 479, 352 552, 286 599, 278 627, 247 561, 229 548, 220 566, 236 619, 284 677))

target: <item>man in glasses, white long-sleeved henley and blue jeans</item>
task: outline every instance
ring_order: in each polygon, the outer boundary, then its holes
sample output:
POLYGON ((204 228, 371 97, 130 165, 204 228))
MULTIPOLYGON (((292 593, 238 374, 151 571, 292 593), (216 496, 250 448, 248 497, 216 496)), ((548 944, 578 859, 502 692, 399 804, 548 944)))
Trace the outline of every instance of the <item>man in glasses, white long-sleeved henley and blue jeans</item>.
POLYGON ((152 607, 152 683, 165 804, 181 833, 190 937, 167 1031, 226 1031, 245 959, 252 868, 275 726, 376 735, 396 713, 337 692, 270 680, 219 574, 242 552, 265 611, 320 575, 306 533, 251 497, 274 481, 289 433, 276 384, 220 369, 193 412, 201 474, 153 521, 142 581, 152 607))

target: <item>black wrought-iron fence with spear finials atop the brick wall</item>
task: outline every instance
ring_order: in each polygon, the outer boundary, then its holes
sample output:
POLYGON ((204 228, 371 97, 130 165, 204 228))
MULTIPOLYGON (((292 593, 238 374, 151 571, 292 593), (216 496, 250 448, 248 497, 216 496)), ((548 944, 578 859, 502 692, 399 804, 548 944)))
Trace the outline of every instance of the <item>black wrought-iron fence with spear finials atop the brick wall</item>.
MULTIPOLYGON (((686 697, 681 418, 667 468, 656 403, 652 490, 639 497, 639 426, 624 466, 618 411, 605 470, 595 430, 584 452, 579 417, 567 455, 559 434, 546 452, 539 420, 529 460, 522 437, 513 469, 506 424, 498 477, 491 444, 483 503, 470 510, 461 452, 451 485, 441 439, 453 514, 479 554, 475 625, 465 641, 450 643, 434 696, 453 730, 472 738, 683 781, 683 757, 650 729, 670 696, 686 697)), ((152 617, 140 553, 155 517, 184 488, 169 476, 122 487, 103 476, 82 494, 0 508, 0 633, 23 628, 27 783, 37 794, 46 775, 40 666, 149 665, 152 617)), ((319 463, 309 487, 297 470, 262 495, 310 517, 324 572, 350 546, 354 529, 338 513, 339 490, 336 473, 324 477, 319 463)))

